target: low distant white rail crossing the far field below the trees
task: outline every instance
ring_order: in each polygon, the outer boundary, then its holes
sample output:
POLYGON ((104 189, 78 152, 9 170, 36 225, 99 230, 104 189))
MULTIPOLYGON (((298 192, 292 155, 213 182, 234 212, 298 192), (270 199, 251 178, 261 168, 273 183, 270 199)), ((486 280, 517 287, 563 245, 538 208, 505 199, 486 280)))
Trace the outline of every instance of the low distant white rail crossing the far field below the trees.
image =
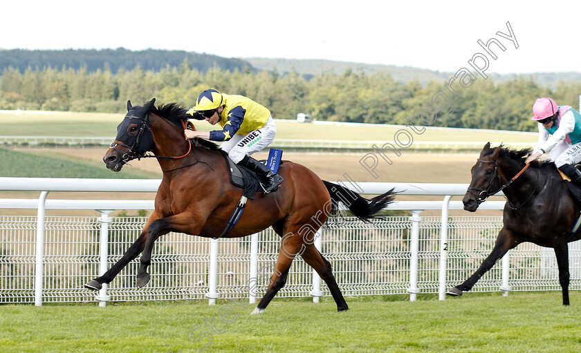
MULTIPOLYGON (((0 136, 0 145, 55 145, 55 146, 78 146, 78 145, 98 145, 109 146, 115 138, 112 137, 71 137, 71 136, 0 136)), ((398 146, 394 141, 342 141, 342 140, 302 140, 302 139, 275 139, 271 144, 273 148, 279 149, 317 149, 317 150, 373 150, 381 149, 384 144, 398 146), (374 147, 376 146, 376 147, 374 147)), ((531 142, 491 142, 493 146, 503 143, 513 149, 524 149, 531 147, 531 142)), ((483 142, 465 141, 414 141, 407 147, 408 150, 431 151, 438 150, 481 150, 483 142)))

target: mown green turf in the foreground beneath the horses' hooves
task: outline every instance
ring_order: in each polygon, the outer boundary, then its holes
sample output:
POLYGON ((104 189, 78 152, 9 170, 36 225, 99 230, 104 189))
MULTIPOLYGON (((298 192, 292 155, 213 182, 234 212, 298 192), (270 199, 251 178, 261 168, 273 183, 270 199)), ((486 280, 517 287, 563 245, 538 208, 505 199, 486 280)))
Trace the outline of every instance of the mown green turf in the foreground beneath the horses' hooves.
POLYGON ((561 305, 559 292, 430 298, 414 303, 347 298, 347 312, 336 312, 331 298, 320 304, 275 298, 257 316, 249 315, 253 306, 225 300, 215 306, 205 300, 104 308, 3 305, 0 347, 3 352, 196 352, 205 345, 206 352, 581 350, 578 293, 571 295, 571 307, 561 305))

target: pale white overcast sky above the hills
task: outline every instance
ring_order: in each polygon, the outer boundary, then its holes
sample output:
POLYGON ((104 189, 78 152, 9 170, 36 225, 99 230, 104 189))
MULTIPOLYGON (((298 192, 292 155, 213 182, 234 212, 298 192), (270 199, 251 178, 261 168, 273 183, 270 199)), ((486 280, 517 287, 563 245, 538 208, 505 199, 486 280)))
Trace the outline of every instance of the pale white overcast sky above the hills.
POLYGON ((154 48, 444 72, 472 70, 476 55, 483 73, 581 71, 578 0, 20 0, 1 9, 1 49, 154 48), (492 38, 505 48, 490 42, 497 59, 477 42, 492 38))

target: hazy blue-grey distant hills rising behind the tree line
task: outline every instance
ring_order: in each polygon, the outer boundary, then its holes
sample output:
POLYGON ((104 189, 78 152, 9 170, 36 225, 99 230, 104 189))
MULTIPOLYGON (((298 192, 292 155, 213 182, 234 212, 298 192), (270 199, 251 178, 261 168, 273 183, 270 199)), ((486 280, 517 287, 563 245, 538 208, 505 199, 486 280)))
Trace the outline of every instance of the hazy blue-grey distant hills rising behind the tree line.
MULTIPOLYGON (((320 73, 335 73, 340 75, 348 68, 351 70, 373 75, 375 73, 388 73, 398 82, 410 82, 418 79, 425 85, 430 81, 448 81, 454 73, 413 68, 409 66, 393 66, 380 64, 360 64, 347 61, 331 61, 322 59, 266 59, 259 57, 250 58, 225 58, 205 53, 193 53, 183 50, 156 50, 147 49, 131 51, 124 48, 117 49, 67 49, 67 50, 24 50, 24 49, 0 49, 0 72, 8 66, 24 72, 26 68, 46 67, 73 68, 75 70, 85 67, 87 71, 94 72, 98 69, 109 68, 112 73, 117 73, 120 68, 133 70, 140 66, 142 70, 159 71, 167 66, 179 67, 189 64, 202 72, 217 66, 223 70, 261 70, 275 71, 280 75, 296 72, 306 79, 320 73)), ((531 73, 523 75, 490 75, 495 82, 504 82, 515 79, 517 76, 533 77, 542 86, 554 87, 557 82, 581 82, 581 72, 569 73, 531 73)))

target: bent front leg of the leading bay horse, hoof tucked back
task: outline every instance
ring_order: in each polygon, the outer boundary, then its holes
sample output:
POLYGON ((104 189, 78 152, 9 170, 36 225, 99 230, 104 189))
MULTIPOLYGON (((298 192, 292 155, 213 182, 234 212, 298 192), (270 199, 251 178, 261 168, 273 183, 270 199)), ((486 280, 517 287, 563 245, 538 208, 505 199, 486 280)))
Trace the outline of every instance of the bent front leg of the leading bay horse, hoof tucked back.
POLYGON ((170 231, 197 235, 200 233, 203 224, 203 218, 195 217, 190 212, 179 213, 151 222, 151 225, 147 227, 147 240, 145 241, 143 254, 140 258, 140 266, 137 271, 137 287, 140 288, 149 283, 150 276, 147 273, 147 267, 151 265, 151 252, 154 249, 154 242, 157 238, 170 231))

